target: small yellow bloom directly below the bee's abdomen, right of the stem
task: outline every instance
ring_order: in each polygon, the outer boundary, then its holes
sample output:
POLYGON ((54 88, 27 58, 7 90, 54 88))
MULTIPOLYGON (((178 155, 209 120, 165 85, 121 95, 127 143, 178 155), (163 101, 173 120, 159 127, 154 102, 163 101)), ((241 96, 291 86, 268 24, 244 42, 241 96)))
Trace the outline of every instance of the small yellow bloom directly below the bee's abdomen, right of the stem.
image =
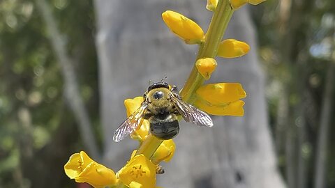
POLYGON ((151 162, 154 164, 159 164, 162 161, 169 162, 174 155, 175 149, 176 145, 172 139, 163 141, 154 155, 152 155, 151 162))

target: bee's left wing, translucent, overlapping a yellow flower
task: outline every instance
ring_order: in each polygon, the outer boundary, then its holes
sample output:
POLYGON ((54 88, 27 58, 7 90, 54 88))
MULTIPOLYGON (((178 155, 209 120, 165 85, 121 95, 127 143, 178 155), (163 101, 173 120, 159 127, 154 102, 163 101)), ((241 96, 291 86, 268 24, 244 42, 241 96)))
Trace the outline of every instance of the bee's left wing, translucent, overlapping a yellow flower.
POLYGON ((131 116, 129 116, 124 123, 117 128, 114 132, 113 140, 115 142, 119 142, 126 138, 129 134, 132 134, 137 129, 138 125, 140 125, 143 121, 143 113, 147 110, 148 104, 147 102, 143 102, 141 107, 138 108, 131 116))

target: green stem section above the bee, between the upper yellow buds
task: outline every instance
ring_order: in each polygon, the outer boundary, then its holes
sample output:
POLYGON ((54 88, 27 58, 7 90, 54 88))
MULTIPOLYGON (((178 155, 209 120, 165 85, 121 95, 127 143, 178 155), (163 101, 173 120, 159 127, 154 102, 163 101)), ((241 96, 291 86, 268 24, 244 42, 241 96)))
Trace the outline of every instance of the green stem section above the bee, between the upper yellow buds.
MULTIPOLYGON (((204 43, 199 48, 196 61, 200 58, 214 58, 216 56, 218 45, 225 33, 225 29, 227 29, 232 13, 234 13, 234 10, 230 7, 228 0, 218 1, 218 6, 211 18, 211 24, 209 24, 204 43)), ((204 77, 200 75, 195 65, 193 65, 191 74, 180 92, 181 98, 185 102, 193 103, 193 95, 202 84, 204 84, 204 77)))

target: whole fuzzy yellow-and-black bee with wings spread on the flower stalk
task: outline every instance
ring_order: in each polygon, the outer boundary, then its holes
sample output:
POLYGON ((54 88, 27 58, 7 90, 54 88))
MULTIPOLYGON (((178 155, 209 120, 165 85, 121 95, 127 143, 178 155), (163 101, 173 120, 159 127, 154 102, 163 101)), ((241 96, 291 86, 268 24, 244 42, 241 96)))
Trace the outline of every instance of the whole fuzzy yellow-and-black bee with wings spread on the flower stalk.
POLYGON ((149 120, 150 133, 158 139, 168 140, 179 133, 178 116, 188 123, 212 127, 213 121, 200 109, 181 100, 176 86, 161 81, 149 86, 144 101, 114 132, 113 140, 119 142, 137 130, 142 120, 149 120))

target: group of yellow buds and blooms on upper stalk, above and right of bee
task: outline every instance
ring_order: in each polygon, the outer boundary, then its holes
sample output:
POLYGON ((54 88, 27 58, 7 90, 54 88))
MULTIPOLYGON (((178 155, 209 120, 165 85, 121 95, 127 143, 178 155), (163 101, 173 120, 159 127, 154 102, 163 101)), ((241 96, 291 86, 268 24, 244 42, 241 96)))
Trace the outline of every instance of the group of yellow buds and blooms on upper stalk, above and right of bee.
MULTIPOLYGON (((232 6, 233 3, 237 2, 230 1, 230 6, 232 6)), ((217 4, 217 0, 208 0, 207 9, 215 10, 217 4)), ((202 31, 198 24, 184 15, 168 10, 163 13, 162 17, 169 29, 179 38, 184 40, 186 44, 198 44, 201 48, 204 46, 207 38, 209 38, 209 36, 204 34, 204 31, 202 31)), ((195 68, 198 72, 196 72, 196 74, 201 75, 203 80, 208 80, 218 65, 215 60, 216 56, 223 58, 237 58, 247 54, 249 49, 250 47, 246 44, 246 42, 234 39, 222 40, 221 42, 218 42, 216 47, 213 48, 214 54, 209 56, 204 55, 203 57, 199 57, 197 59, 195 62, 195 68)), ((203 80, 200 80, 199 82, 203 82, 203 80)), ((193 84, 195 81, 193 81, 193 84)), ((202 85, 202 83, 200 84, 202 85)), ((193 102, 195 107, 198 107, 211 115, 243 116, 244 102, 240 99, 244 97, 246 97, 246 92, 241 87, 241 84, 207 84, 200 86, 193 92, 193 100, 191 102, 193 102)))

